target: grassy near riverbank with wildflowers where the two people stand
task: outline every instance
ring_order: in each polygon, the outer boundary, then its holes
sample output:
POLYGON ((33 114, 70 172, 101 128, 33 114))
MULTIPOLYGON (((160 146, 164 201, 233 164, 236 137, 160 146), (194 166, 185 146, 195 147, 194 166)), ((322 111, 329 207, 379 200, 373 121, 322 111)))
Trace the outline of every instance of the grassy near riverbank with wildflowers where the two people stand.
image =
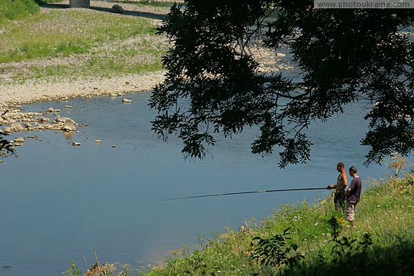
MULTIPOLYGON (((149 272, 124 266, 124 274, 108 275, 412 275, 414 174, 363 186, 356 228, 335 211, 332 197, 298 202, 264 221, 228 229, 195 252, 175 250, 149 272)), ((74 265, 66 275, 76 273, 74 265)))

